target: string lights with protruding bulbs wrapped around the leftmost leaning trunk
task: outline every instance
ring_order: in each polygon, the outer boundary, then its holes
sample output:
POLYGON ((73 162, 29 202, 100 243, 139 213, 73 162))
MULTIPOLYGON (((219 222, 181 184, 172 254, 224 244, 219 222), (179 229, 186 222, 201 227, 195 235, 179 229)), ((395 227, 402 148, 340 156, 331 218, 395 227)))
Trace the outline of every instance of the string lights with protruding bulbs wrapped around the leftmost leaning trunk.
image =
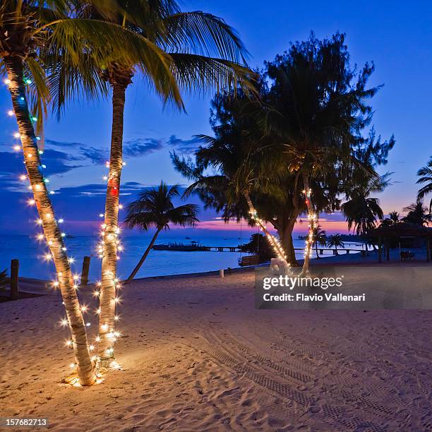
POLYGON ((47 253, 43 258, 47 261, 54 260, 56 266, 56 280, 53 281, 52 286, 59 287, 64 298, 62 303, 66 308, 66 318, 61 320, 61 325, 68 326, 71 330, 71 339, 68 340, 67 346, 73 348, 75 354, 75 361, 71 367, 77 368, 77 373, 73 377, 73 385, 91 385, 95 383, 97 377, 89 355, 82 311, 80 311, 76 297, 76 284, 73 282, 70 268, 71 260, 68 260, 66 256, 64 245, 66 234, 61 233, 59 229, 59 224, 63 220, 56 220, 54 217, 52 203, 49 200, 49 195, 53 195, 54 191, 47 189, 49 179, 43 174, 46 165, 41 161, 43 150, 40 145, 43 140, 40 136, 35 136, 37 117, 30 114, 25 97, 25 85, 30 85, 32 81, 23 77, 23 64, 20 59, 8 58, 5 63, 8 77, 11 78, 6 79, 5 84, 8 85, 13 102, 13 110, 9 110, 7 115, 15 116, 18 124, 18 132, 13 135, 17 140, 13 145, 13 150, 23 151, 27 174, 21 174, 19 178, 21 181, 29 181, 28 191, 32 192, 32 198, 28 203, 34 205, 39 214, 37 224, 42 228, 42 232, 37 234, 36 238, 46 239, 47 243, 47 253), (67 302, 66 299, 68 299, 67 302))

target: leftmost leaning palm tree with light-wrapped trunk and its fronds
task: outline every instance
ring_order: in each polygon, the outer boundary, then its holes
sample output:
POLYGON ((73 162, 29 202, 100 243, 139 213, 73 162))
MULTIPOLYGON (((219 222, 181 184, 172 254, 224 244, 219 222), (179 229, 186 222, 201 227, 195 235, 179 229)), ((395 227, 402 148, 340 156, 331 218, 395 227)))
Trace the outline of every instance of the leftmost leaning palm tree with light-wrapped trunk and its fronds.
MULTIPOLYGON (((91 385, 95 382, 95 371, 90 359, 85 324, 63 236, 49 199, 47 179, 44 178, 40 160, 41 152, 37 146, 40 137, 36 136, 34 121, 37 117, 37 131, 42 131, 42 120, 52 96, 44 68, 59 71, 61 54, 67 57, 72 66, 78 85, 86 75, 85 69, 81 69, 82 75, 78 71, 84 65, 83 54, 88 52, 88 47, 92 47, 93 64, 100 66, 102 59, 106 59, 107 46, 112 53, 124 52, 126 48, 130 59, 142 56, 143 49, 129 43, 130 37, 124 29, 101 20, 89 25, 88 20, 77 13, 80 6, 82 4, 78 0, 1 1, 0 74, 6 76, 5 82, 11 92, 25 167, 34 197, 30 203, 36 205, 49 246, 48 257, 54 260, 56 266, 71 329, 79 381, 81 385, 91 385)), ((57 80, 62 80, 58 74, 57 80)))

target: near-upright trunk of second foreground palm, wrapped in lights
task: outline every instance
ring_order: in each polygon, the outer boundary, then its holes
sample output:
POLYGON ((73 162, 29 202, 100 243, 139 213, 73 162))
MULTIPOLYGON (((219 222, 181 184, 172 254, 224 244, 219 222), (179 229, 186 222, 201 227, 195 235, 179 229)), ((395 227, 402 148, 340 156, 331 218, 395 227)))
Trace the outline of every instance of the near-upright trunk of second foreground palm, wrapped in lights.
POLYGON ((102 246, 102 285, 100 289, 100 342, 98 354, 102 366, 109 366, 114 360, 114 320, 116 313, 116 268, 119 233, 119 193, 121 168, 123 167, 123 116, 126 87, 131 83, 131 75, 112 72, 112 135, 109 157, 107 197, 105 200, 105 220, 102 246))

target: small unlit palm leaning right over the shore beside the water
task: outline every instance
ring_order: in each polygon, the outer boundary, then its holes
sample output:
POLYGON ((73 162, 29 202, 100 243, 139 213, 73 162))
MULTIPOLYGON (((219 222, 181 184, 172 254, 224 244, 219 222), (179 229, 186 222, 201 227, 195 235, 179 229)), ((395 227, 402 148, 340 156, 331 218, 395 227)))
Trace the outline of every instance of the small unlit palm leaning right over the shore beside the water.
POLYGON ((196 217, 198 205, 184 204, 174 207, 172 199, 179 195, 179 185, 176 184, 169 188, 167 184, 161 181, 157 188, 140 193, 140 198, 128 205, 128 215, 124 221, 126 226, 129 228, 138 227, 144 231, 148 231, 150 227, 155 227, 156 232, 126 282, 131 282, 138 270, 140 270, 141 265, 143 265, 145 258, 147 258, 162 229, 169 229, 169 224, 184 227, 198 222, 198 218, 196 217))

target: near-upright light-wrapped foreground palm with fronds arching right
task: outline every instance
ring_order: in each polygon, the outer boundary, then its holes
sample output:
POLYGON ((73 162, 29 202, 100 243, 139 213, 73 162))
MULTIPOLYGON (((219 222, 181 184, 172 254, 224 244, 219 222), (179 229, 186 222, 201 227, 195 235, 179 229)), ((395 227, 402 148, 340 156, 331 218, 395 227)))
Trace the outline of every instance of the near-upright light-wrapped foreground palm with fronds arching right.
MULTIPOLYGON (((247 54, 236 32, 221 18, 200 11, 181 12, 174 0, 118 0, 122 12, 109 18, 128 28, 137 40, 154 49, 152 56, 129 61, 111 56, 102 77, 112 87, 112 136, 105 201, 102 242, 102 287, 100 290, 100 344, 102 361, 114 358, 116 238, 119 222, 119 193, 123 167, 122 143, 126 89, 140 72, 164 102, 183 108, 180 90, 210 90, 241 83, 248 87, 251 72, 242 66, 247 54)), ((96 11, 95 18, 99 18, 96 11)))

